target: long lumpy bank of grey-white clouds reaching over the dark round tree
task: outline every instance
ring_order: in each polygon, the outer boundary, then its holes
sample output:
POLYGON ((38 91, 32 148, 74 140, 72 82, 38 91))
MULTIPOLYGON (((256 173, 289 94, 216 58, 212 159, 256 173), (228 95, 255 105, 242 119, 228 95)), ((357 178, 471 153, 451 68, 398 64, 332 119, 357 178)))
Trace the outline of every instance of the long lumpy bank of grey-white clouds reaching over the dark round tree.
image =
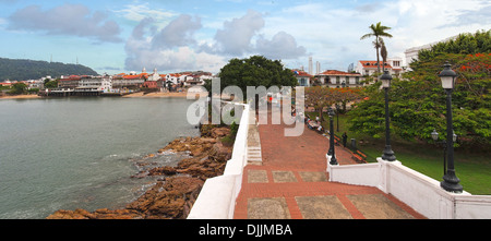
POLYGON ((157 68, 161 71, 192 70, 218 72, 230 57, 263 55, 272 59, 296 59, 306 55, 294 36, 276 33, 271 40, 260 35, 264 27, 262 14, 249 10, 243 16, 225 21, 213 39, 196 40, 203 28, 201 17, 181 14, 160 31, 151 28, 155 21, 143 19, 127 40, 125 68, 157 68), (253 39, 256 38, 256 41, 253 39))

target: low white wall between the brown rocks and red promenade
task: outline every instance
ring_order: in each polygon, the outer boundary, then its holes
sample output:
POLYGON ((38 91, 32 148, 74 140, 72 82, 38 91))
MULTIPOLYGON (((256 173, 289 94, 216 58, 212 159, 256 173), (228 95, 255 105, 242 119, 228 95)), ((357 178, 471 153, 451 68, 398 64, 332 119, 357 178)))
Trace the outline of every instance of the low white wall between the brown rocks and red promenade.
POLYGON ((242 171, 247 165, 249 105, 242 106, 242 117, 233 143, 231 159, 227 161, 223 176, 209 178, 205 181, 188 215, 188 219, 233 218, 236 198, 242 186, 242 171))

